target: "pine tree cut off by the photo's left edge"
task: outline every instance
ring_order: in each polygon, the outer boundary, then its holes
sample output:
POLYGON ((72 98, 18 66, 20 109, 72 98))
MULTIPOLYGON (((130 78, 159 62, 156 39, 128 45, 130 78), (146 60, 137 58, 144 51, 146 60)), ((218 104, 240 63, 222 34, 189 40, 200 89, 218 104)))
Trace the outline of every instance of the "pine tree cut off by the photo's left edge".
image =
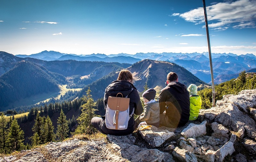
POLYGON ((7 135, 7 122, 4 118, 4 113, 1 113, 0 118, 0 152, 5 152, 6 147, 6 135, 7 135))

